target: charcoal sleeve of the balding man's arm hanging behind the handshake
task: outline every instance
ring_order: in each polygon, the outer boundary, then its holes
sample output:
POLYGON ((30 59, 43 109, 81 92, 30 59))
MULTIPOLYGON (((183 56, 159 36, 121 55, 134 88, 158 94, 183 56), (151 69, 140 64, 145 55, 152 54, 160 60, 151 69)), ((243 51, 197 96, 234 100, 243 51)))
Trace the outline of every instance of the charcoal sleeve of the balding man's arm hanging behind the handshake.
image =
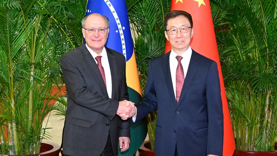
MULTIPOLYGON (((124 60, 124 69, 122 75, 122 84, 121 84, 121 94, 120 101, 129 100, 128 88, 126 84, 126 61, 124 60)), ((130 120, 122 120, 119 121, 119 137, 131 137, 130 132, 130 120)))

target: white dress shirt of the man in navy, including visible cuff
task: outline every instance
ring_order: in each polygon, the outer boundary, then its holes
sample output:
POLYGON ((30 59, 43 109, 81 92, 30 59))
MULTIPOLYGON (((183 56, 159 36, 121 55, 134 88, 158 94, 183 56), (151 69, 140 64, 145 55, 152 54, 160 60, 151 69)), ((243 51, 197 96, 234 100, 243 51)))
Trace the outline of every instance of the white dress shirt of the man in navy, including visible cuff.
MULTIPOLYGON (((181 60, 181 63, 184 70, 185 81, 186 81, 187 69, 191 60, 191 54, 192 54, 192 49, 190 46, 185 52, 183 52, 180 55, 183 57, 183 59, 181 60)), ((169 67, 171 72, 171 80, 172 80, 175 99, 176 99, 176 69, 178 66, 178 60, 176 59, 176 56, 177 54, 171 49, 171 52, 169 54, 169 67)), ((136 117, 137 117, 137 113, 134 115, 134 117, 132 117, 133 122, 136 121, 136 117)))

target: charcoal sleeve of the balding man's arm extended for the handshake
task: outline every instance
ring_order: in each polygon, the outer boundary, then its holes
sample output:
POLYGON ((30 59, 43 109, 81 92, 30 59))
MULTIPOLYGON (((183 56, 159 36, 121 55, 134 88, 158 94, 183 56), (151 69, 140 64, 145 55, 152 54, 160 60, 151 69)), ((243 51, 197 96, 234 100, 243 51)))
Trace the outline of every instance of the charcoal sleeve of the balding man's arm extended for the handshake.
POLYGON ((82 73, 67 56, 62 56, 60 64, 66 90, 75 104, 99 112, 112 120, 118 109, 118 101, 98 94, 98 89, 88 89, 82 73))

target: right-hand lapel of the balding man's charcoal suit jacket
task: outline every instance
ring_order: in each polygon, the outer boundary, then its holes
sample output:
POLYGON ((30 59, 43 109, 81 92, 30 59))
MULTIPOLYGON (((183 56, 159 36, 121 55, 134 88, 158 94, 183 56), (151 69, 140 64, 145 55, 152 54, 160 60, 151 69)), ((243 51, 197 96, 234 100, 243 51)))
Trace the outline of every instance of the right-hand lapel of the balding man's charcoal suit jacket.
POLYGON ((115 96, 115 91, 116 91, 116 80, 115 80, 115 76, 116 76, 116 73, 117 73, 117 64, 116 64, 116 59, 115 59, 115 56, 113 55, 112 51, 105 47, 106 48, 106 51, 107 51, 107 55, 108 55, 108 60, 109 60, 109 65, 110 65, 110 74, 111 74, 111 79, 112 79, 112 96, 111 98, 114 99, 114 96, 115 96))

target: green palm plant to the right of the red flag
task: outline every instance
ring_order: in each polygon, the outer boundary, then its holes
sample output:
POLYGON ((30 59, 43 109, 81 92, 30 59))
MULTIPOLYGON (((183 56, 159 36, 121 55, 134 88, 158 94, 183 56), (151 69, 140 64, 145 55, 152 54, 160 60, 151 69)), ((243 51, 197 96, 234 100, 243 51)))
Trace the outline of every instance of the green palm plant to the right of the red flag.
POLYGON ((211 8, 235 147, 249 151, 274 150, 277 2, 214 0, 211 8))

